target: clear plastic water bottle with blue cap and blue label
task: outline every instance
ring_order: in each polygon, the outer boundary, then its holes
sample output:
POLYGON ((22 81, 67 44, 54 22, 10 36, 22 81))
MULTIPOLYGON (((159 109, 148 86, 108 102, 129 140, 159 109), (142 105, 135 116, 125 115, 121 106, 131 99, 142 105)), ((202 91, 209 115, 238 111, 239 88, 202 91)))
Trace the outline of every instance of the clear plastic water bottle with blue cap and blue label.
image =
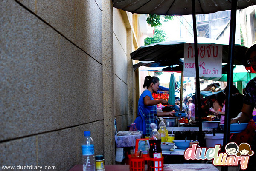
POLYGON ((82 154, 83 171, 95 171, 94 144, 90 137, 90 131, 84 131, 82 154))

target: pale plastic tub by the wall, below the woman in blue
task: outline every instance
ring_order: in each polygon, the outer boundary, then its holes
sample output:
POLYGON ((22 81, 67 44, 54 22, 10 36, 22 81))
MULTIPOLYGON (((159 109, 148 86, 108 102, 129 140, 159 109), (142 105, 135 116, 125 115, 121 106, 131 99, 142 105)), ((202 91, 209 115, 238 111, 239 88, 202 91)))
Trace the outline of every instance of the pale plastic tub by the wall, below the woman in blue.
POLYGON ((133 147, 136 144, 136 140, 140 139, 142 135, 125 135, 125 136, 115 136, 116 147, 133 147))

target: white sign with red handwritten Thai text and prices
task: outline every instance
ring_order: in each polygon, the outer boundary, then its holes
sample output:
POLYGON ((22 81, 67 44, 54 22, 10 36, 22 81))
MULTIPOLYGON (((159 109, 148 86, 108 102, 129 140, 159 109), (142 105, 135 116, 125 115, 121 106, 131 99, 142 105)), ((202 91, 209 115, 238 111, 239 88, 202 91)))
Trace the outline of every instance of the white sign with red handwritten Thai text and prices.
MULTIPOLYGON (((199 77, 221 77, 222 45, 198 44, 199 77)), ((195 76, 194 44, 184 44, 184 77, 195 76)))

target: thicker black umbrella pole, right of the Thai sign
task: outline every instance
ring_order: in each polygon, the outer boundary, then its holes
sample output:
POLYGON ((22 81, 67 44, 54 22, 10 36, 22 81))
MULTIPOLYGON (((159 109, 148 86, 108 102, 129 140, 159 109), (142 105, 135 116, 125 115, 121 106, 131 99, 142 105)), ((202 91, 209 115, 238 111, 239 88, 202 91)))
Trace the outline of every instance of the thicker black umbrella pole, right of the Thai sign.
MULTIPOLYGON (((230 88, 233 85, 233 63, 234 63, 234 50, 235 50, 235 35, 236 35, 236 10, 237 10, 237 0, 231 1, 231 17, 230 17, 230 42, 228 48, 228 61, 229 69, 227 74, 227 96, 226 96, 226 110, 225 110, 225 121, 224 121, 224 138, 223 138, 223 146, 225 147, 229 142, 230 138, 230 88)), ((222 166, 221 171, 227 171, 227 167, 222 166)))

